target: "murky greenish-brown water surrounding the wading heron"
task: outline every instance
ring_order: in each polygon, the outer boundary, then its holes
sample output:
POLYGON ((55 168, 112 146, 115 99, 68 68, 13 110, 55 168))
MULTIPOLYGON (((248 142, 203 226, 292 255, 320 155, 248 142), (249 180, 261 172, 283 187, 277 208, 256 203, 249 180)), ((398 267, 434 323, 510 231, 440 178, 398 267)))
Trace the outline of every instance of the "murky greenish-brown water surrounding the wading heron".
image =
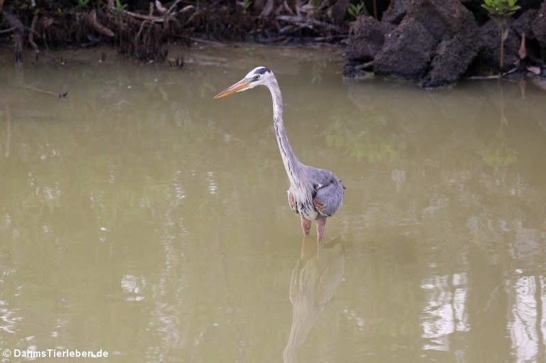
POLYGON ((544 91, 344 83, 334 50, 184 53, 1 55, 1 362, 546 362, 544 91), (267 90, 212 98, 256 65, 299 158, 347 187, 319 247, 267 90))

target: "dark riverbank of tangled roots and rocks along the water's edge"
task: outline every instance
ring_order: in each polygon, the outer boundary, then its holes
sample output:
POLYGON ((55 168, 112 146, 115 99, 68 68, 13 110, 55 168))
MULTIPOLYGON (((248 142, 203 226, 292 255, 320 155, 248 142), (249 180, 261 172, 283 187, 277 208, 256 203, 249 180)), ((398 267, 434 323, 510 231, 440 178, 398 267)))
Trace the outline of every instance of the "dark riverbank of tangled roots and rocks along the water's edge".
POLYGON ((169 45, 245 41, 346 48, 346 77, 424 87, 461 77, 546 77, 546 1, 492 16, 481 0, 0 1, 0 44, 22 63, 50 49, 112 45, 141 62, 183 66, 169 45), (499 20, 501 19, 501 20, 499 20))

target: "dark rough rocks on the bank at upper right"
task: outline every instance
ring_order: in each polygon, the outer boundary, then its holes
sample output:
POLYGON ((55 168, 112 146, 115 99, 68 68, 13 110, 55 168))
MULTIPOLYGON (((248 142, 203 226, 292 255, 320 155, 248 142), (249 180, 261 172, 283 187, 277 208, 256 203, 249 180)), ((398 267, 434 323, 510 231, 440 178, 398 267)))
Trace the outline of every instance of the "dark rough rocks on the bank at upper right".
POLYGON ((499 77, 537 72, 544 76, 546 1, 522 1, 521 9, 508 19, 503 52, 498 23, 481 4, 483 1, 473 0, 392 0, 382 21, 362 16, 350 27, 350 63, 344 75, 362 77, 365 70, 414 80, 423 87, 452 85, 478 70, 499 77))

